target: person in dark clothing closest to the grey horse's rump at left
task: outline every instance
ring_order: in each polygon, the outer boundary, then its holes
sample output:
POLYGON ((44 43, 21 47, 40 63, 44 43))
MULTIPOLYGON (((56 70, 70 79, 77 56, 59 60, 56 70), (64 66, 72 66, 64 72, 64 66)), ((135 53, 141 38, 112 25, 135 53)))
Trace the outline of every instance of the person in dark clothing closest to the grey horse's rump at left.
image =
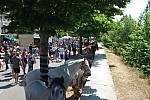
POLYGON ((33 70, 33 64, 36 63, 35 56, 32 53, 32 50, 30 50, 30 53, 27 58, 28 58, 28 65, 29 65, 28 72, 29 72, 29 71, 33 70))

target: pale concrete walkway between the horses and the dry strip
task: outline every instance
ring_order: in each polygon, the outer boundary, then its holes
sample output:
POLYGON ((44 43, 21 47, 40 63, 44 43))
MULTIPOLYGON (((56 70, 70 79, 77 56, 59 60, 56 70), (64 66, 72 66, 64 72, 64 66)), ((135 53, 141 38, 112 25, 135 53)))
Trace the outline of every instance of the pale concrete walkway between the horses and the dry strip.
POLYGON ((91 76, 88 77, 80 100, 117 100, 105 52, 100 43, 98 46, 91 76))

